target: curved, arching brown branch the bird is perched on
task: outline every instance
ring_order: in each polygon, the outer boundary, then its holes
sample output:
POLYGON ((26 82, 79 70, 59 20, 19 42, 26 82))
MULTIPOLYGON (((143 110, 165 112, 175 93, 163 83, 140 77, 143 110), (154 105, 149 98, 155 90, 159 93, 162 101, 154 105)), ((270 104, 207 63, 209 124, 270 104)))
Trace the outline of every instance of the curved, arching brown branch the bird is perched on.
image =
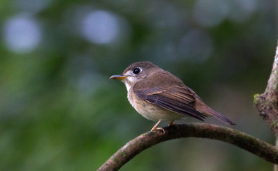
POLYGON ((134 138, 115 152, 106 163, 101 165, 99 171, 118 170, 124 163, 131 160, 134 156, 142 152, 142 150, 152 147, 152 145, 174 138, 186 137, 210 138, 224 141, 243 148, 266 161, 278 163, 278 149, 275 146, 236 129, 205 123, 188 123, 178 126, 179 129, 177 127, 164 127, 164 135, 161 131, 147 132, 134 138))

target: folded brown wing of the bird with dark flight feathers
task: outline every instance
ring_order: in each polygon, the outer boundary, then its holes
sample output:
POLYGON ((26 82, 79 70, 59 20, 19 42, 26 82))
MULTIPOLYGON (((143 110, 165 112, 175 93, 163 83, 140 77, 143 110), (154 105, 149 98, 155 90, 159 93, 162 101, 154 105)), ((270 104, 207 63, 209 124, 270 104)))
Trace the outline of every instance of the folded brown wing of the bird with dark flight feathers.
MULTIPOLYGON (((143 82, 133 87, 133 92, 139 97, 170 111, 191 116, 199 120, 206 117, 195 109, 195 92, 182 85, 156 86, 143 88, 143 82)), ((199 98, 197 96, 197 98, 199 98)))

